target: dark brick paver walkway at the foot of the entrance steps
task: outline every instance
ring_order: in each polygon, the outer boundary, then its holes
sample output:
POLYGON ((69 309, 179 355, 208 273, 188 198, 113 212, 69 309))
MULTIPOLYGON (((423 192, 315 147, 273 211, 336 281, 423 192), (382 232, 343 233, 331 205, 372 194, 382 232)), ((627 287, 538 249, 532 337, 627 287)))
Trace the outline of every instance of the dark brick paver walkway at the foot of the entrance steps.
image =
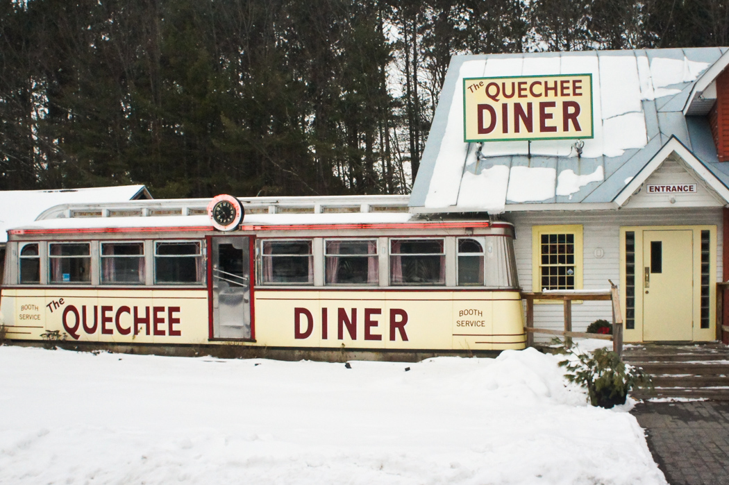
POLYGON ((729 403, 644 403, 631 412, 669 484, 729 485, 729 403))

